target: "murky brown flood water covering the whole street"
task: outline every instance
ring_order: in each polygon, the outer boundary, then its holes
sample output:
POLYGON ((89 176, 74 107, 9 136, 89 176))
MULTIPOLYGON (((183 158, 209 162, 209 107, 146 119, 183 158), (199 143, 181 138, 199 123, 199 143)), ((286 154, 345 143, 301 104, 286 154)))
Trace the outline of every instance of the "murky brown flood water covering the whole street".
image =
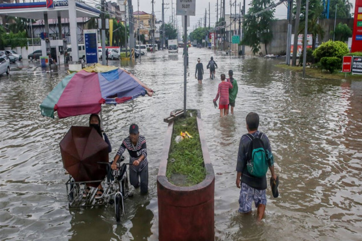
MULTIPOLYGON (((201 110, 215 171, 215 240, 361 240, 362 81, 302 79, 275 66, 281 62, 189 48, 187 108, 201 110), (211 56, 219 66, 216 80, 206 70, 211 56), (194 78, 198 57, 204 64, 202 85, 194 78), (219 74, 228 69, 239 93, 235 114, 220 119, 212 100, 219 74), (237 212, 237 150, 250 111, 260 115, 259 130, 269 136, 280 180, 278 198, 268 184, 261 223, 254 207, 251 216, 237 212)), ((59 142, 71 125, 88 125, 88 116, 41 116, 39 105, 67 75, 64 68, 50 73, 13 68, 9 77, 0 76, 0 240, 158 240, 163 118, 183 108, 182 51, 149 53, 134 65, 121 65, 155 94, 103 108, 110 159, 129 125, 137 123, 147 140, 149 194, 128 198, 118 224, 111 205, 69 210, 59 142)))

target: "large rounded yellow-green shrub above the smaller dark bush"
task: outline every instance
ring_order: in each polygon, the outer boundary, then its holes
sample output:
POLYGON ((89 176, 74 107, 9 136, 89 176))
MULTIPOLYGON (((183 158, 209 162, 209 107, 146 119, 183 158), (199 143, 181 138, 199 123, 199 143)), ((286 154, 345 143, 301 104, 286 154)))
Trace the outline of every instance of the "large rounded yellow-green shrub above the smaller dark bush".
POLYGON ((313 51, 313 56, 316 58, 316 61, 320 61, 323 57, 336 57, 339 58, 342 62, 343 55, 349 53, 347 44, 340 41, 328 41, 313 51))

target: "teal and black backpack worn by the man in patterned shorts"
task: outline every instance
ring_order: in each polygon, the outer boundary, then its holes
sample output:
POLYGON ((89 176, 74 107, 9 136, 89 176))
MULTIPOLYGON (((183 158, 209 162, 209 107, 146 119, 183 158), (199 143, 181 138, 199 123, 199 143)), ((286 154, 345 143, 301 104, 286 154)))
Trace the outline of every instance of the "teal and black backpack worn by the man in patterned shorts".
POLYGON ((247 153, 247 168, 250 175, 256 177, 263 177, 268 172, 268 155, 262 141, 264 133, 260 132, 258 135, 246 134, 251 143, 247 153))

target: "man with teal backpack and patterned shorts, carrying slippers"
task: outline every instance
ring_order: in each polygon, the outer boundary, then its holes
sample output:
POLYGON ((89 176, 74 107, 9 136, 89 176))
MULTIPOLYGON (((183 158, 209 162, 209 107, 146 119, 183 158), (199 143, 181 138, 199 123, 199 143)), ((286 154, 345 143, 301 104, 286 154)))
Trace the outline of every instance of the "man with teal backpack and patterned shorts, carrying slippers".
POLYGON ((263 219, 267 204, 266 189, 268 168, 271 179, 277 181, 274 173, 274 158, 269 139, 258 131, 259 115, 250 112, 246 117, 248 133, 242 135, 236 164, 236 186, 241 188, 239 213, 251 213, 252 201, 257 208, 258 220, 263 219), (240 185, 241 184, 241 185, 240 185))

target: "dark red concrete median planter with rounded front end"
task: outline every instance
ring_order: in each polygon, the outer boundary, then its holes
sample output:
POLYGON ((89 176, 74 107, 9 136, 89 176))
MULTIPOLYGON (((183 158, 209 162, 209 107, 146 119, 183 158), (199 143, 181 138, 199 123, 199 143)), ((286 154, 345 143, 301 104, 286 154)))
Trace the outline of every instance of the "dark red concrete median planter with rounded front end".
POLYGON ((200 110, 197 110, 196 119, 206 176, 202 182, 189 187, 176 186, 168 181, 166 169, 174 125, 174 122, 170 122, 157 176, 159 241, 214 240, 215 175, 206 146, 200 110))

